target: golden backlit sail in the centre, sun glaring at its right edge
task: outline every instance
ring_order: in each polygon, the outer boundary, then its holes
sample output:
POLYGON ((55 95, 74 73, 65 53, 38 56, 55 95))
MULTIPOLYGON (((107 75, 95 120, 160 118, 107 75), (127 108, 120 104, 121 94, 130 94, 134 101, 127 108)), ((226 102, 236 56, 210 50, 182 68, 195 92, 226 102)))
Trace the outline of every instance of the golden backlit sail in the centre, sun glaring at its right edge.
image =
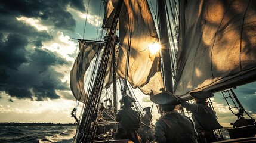
MULTIPOLYGON (((115 1, 105 8, 115 10, 115 1)), ((106 10, 109 11, 109 10, 106 10)), ((109 27, 113 14, 109 12, 104 18, 104 27, 109 27), (107 22, 108 21, 108 22, 107 22)), ((153 22, 149 5, 146 0, 124 1, 119 16, 120 49, 117 63, 117 73, 123 79, 126 76, 127 56, 129 56, 127 80, 133 88, 140 88, 144 94, 161 92, 163 80, 160 73, 159 51, 151 53, 149 46, 158 43, 158 35, 153 22), (130 51, 128 51, 130 47, 130 51)))

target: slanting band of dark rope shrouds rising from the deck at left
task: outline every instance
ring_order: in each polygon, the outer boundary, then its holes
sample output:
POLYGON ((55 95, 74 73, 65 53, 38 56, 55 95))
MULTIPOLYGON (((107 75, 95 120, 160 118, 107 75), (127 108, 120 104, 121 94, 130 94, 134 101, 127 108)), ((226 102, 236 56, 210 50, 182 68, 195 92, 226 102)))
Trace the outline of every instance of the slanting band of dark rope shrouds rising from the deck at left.
POLYGON ((115 13, 114 20, 112 23, 109 38, 107 40, 106 48, 102 52, 102 58, 100 64, 98 64, 97 75, 95 76, 94 86, 90 92, 90 98, 85 107, 81 128, 79 128, 78 142, 93 142, 95 132, 98 125, 98 107, 100 105, 100 96, 103 89, 104 77, 106 76, 106 67, 109 61, 109 55, 112 52, 112 48, 115 48, 115 33, 116 26, 118 23, 118 17, 121 10, 122 1, 118 1, 118 8, 115 13))

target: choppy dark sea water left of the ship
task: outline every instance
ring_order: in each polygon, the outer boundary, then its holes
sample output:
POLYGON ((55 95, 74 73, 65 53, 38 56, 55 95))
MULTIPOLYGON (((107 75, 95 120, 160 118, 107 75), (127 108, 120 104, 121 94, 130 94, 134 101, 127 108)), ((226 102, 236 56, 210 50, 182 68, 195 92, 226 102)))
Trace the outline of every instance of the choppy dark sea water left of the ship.
POLYGON ((72 142, 76 126, 0 126, 0 142, 72 142))

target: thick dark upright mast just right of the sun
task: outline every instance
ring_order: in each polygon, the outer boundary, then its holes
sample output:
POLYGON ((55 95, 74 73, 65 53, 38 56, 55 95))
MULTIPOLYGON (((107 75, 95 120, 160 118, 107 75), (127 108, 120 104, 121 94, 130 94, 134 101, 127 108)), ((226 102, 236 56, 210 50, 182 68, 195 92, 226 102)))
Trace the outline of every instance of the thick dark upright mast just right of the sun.
POLYGON ((162 54, 162 64, 163 64, 163 76, 164 76, 164 87, 166 91, 173 93, 172 86, 172 70, 171 70, 171 54, 170 54, 170 44, 168 27, 166 21, 166 4, 165 0, 158 0, 158 17, 159 17, 159 38, 161 43, 161 54, 162 54))

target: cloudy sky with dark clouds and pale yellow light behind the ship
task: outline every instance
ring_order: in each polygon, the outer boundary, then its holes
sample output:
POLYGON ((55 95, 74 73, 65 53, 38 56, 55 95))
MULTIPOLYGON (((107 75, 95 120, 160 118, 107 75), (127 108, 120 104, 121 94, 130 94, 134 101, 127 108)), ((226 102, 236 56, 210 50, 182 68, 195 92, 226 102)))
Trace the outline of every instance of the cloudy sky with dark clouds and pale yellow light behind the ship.
MULTIPOLYGON (((96 39, 104 13, 100 0, 87 5, 82 0, 0 1, 0 122, 74 123, 69 74, 79 51, 72 38, 96 39)), ((234 89, 254 118, 255 87, 256 82, 234 89)), ((138 94, 142 107, 152 105, 147 95, 138 94)), ((211 100, 222 125, 235 122, 220 92, 211 100)), ((155 109, 153 122, 159 117, 155 109)))

